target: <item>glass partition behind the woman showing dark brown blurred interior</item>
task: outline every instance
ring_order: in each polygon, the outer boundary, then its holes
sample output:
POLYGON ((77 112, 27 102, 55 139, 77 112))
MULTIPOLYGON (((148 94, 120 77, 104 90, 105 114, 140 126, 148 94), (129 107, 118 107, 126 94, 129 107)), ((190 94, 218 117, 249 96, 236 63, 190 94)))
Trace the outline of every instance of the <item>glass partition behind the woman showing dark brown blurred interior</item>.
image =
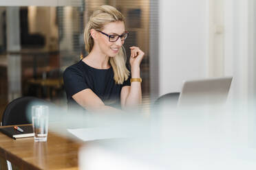
MULTIPOLYGON (((77 1, 77 0, 76 0, 77 1)), ((75 6, 0 7, 0 112, 13 99, 36 96, 66 106, 62 73, 87 56, 83 29, 99 5, 113 5, 126 17, 131 46, 145 51, 142 94, 149 97, 149 1, 79 1, 75 6)), ((1 115, 0 115, 1 117, 1 115)))

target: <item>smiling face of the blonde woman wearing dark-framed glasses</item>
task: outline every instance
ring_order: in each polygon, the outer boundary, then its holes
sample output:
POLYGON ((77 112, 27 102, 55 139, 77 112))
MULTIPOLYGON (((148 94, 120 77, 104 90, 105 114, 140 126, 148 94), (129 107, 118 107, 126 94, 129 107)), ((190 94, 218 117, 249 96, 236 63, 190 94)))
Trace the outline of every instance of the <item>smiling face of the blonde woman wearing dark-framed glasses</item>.
POLYGON ((99 35, 97 41, 101 52, 109 57, 116 56, 121 50, 125 40, 121 40, 121 38, 118 37, 116 42, 109 42, 109 37, 103 33, 107 35, 122 35, 125 33, 125 24, 122 21, 108 23, 101 32, 98 32, 99 35))

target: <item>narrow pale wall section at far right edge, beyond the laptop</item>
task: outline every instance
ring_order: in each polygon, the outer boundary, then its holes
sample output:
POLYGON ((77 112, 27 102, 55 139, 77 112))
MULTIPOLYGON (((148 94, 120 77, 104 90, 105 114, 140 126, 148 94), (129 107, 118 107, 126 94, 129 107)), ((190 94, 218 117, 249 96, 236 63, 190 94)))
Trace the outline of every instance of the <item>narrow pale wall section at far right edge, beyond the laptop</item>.
POLYGON ((226 0, 224 3, 224 72, 233 75, 231 98, 239 104, 256 97, 255 9, 255 0, 226 0))

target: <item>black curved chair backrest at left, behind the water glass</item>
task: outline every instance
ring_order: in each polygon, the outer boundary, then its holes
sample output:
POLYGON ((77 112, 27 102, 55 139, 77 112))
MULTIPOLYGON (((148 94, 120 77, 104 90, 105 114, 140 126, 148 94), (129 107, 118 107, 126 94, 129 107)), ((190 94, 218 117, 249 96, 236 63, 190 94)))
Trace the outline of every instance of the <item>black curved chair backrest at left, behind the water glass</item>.
POLYGON ((8 104, 3 112, 2 125, 21 125, 32 123, 31 106, 47 105, 49 102, 36 97, 19 97, 8 104))

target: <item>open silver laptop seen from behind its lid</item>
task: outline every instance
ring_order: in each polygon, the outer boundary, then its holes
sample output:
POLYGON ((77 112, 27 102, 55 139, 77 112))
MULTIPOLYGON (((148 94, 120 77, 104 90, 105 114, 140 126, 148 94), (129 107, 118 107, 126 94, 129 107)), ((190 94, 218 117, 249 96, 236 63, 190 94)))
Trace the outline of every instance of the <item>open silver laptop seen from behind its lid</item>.
POLYGON ((233 77, 217 77, 204 80, 185 81, 178 107, 224 104, 233 77))

